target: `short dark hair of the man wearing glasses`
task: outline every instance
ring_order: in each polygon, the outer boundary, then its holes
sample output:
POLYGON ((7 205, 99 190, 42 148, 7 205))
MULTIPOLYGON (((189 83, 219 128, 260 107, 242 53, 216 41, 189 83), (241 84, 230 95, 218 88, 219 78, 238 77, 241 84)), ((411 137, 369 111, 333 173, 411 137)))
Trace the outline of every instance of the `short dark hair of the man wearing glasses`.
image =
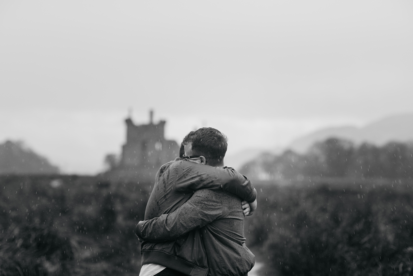
POLYGON ((183 139, 183 144, 192 142, 192 154, 202 155, 211 166, 222 163, 227 152, 227 137, 212 127, 202 127, 191 131, 183 139))

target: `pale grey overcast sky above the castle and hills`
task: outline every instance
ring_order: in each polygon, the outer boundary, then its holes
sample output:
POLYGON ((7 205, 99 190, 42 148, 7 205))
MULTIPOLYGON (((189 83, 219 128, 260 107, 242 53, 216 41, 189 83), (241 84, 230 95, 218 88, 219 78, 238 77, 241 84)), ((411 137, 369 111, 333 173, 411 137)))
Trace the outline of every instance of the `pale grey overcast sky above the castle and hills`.
POLYGON ((228 136, 228 154, 413 112, 411 1, 0 1, 0 142, 66 173, 123 120, 228 136))

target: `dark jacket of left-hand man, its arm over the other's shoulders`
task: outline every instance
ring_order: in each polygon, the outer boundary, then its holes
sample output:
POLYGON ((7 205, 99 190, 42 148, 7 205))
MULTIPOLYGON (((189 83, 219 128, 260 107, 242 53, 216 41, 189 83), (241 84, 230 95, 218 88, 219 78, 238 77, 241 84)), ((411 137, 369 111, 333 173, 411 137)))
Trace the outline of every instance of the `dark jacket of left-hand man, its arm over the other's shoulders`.
MULTIPOLYGON (((201 188, 228 191, 249 202, 256 199, 252 183, 233 168, 211 167, 176 158, 157 172, 145 220, 175 211, 201 188)), ((205 276, 208 272, 199 230, 167 242, 145 240, 141 244, 141 254, 142 265, 160 264, 191 276, 205 276)))

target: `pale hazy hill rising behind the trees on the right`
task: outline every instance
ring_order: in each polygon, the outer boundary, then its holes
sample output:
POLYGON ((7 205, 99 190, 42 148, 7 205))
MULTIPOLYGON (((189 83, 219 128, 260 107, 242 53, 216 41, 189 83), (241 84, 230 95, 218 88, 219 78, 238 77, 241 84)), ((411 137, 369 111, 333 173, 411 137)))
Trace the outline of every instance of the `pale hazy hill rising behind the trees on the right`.
POLYGON ((294 140, 289 148, 304 153, 315 142, 324 141, 329 137, 348 139, 355 144, 369 142, 378 146, 391 141, 413 141, 413 113, 390 116, 361 128, 326 128, 294 140))

